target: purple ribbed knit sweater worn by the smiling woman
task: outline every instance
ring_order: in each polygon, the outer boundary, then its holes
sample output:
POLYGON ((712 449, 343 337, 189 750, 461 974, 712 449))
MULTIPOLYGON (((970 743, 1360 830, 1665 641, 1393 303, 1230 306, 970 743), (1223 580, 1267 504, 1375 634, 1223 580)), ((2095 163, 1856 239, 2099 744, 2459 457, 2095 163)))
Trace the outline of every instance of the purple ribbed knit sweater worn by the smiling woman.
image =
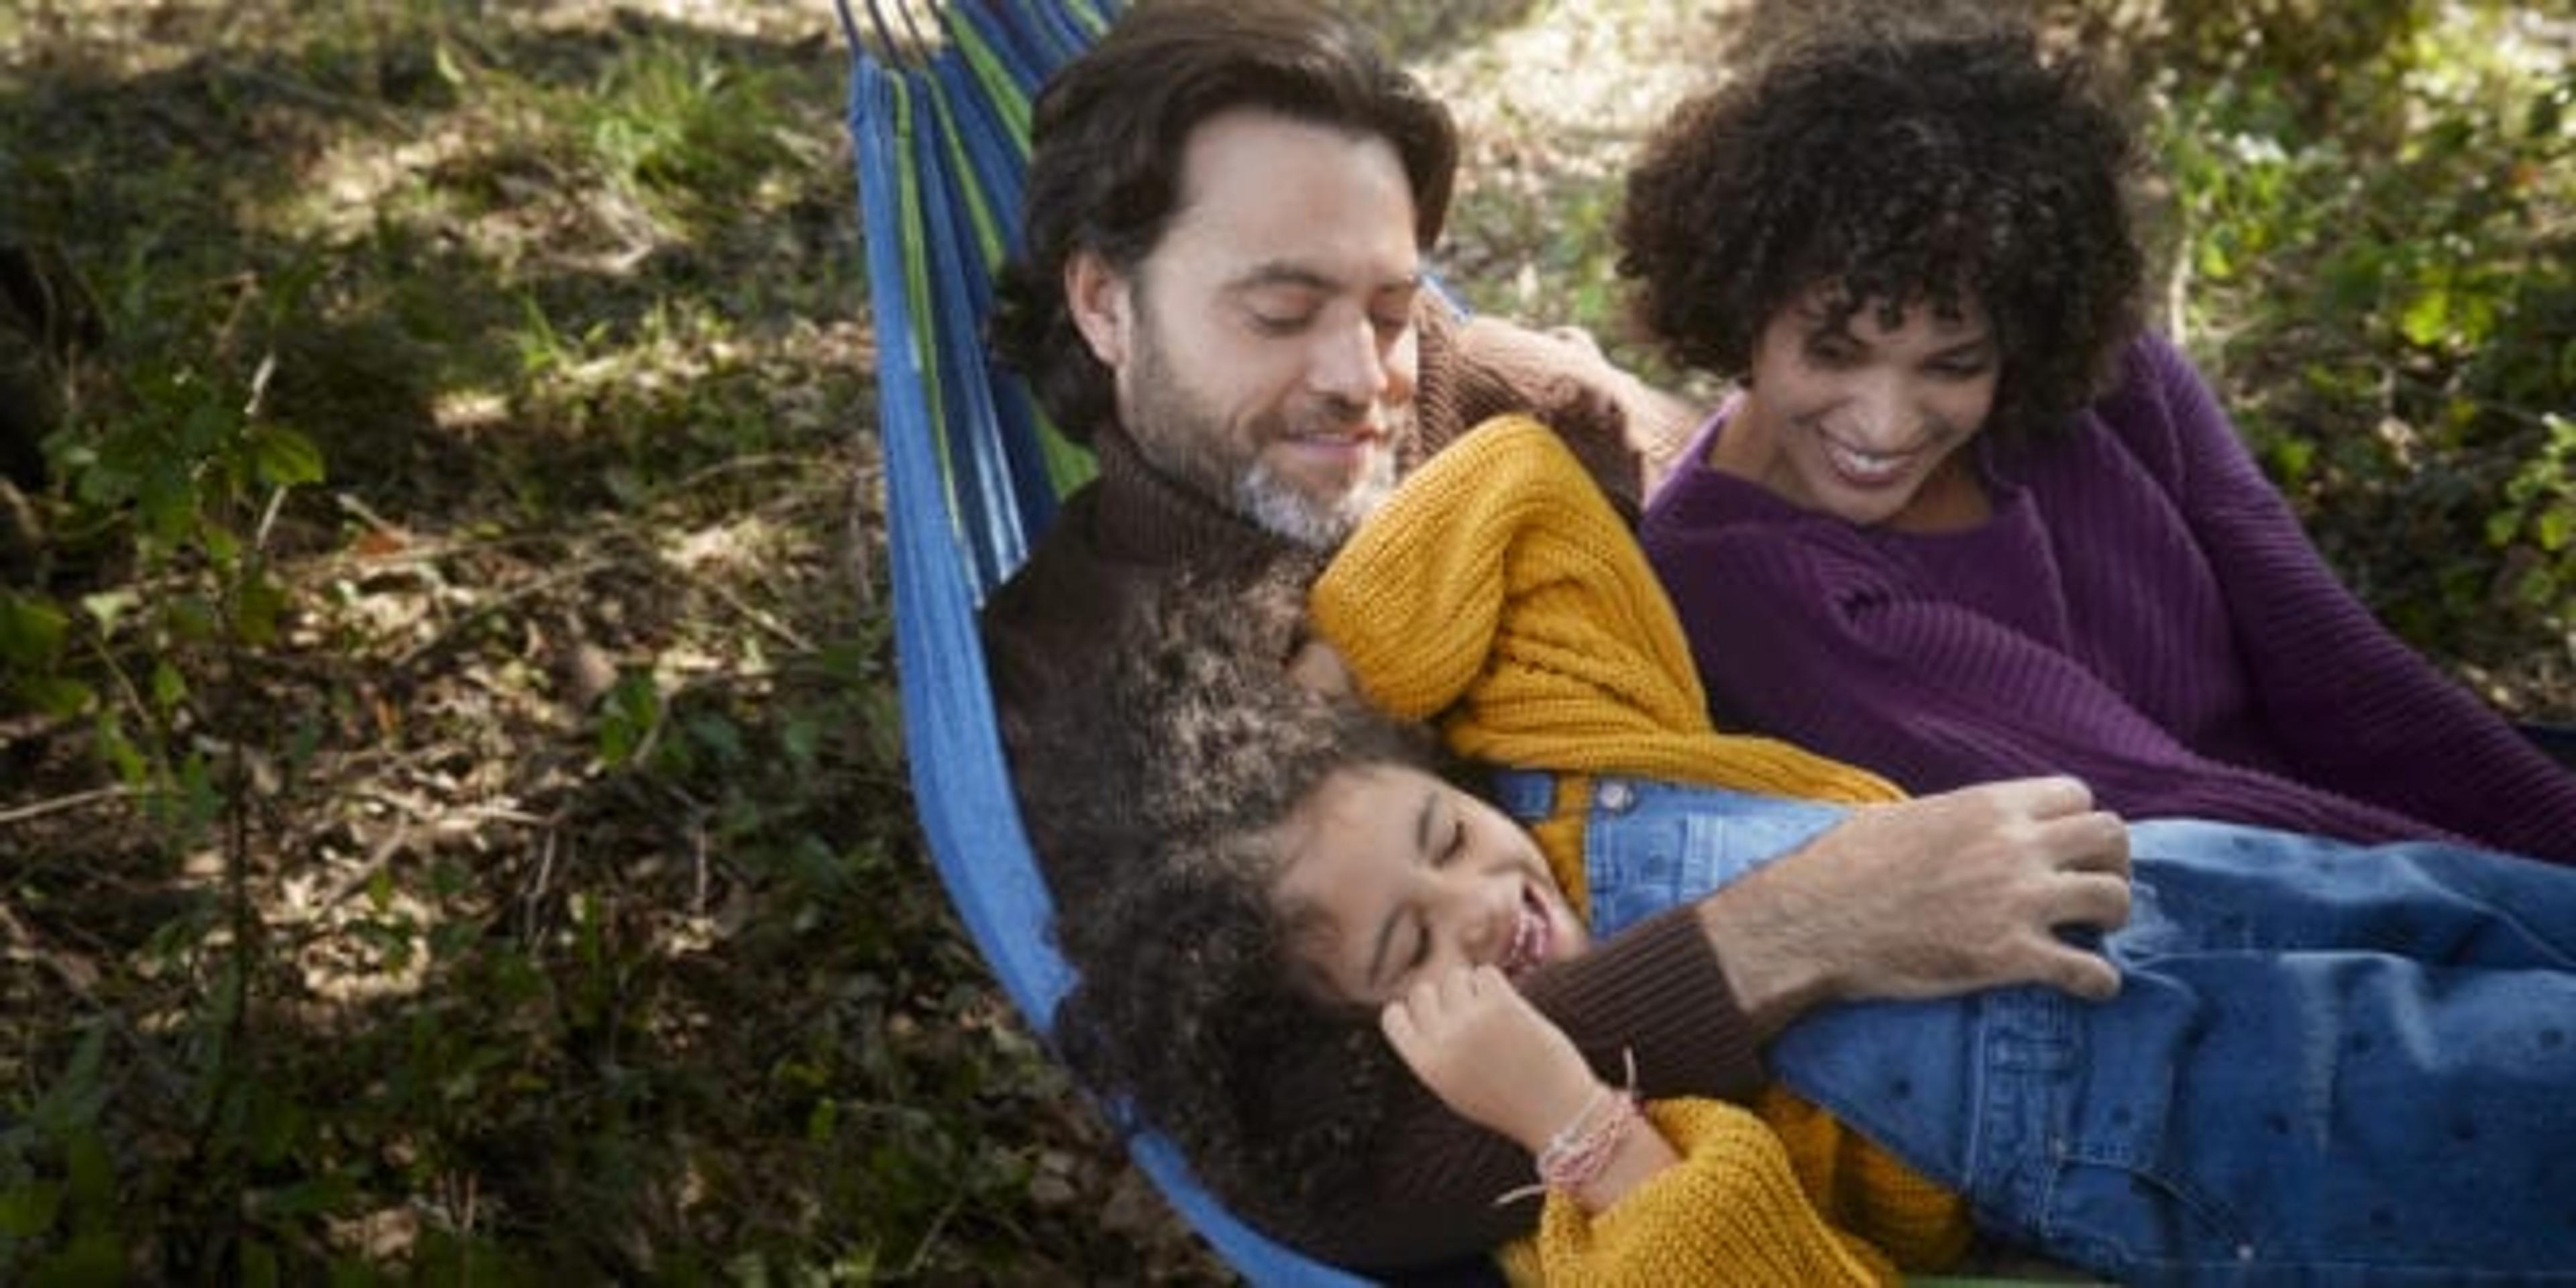
POLYGON ((1713 714, 1911 791, 2074 773, 2128 817, 2465 837, 2576 863, 2576 775, 2326 569, 2169 343, 2020 451, 1994 518, 1855 528, 1708 466, 1646 510, 1713 714))

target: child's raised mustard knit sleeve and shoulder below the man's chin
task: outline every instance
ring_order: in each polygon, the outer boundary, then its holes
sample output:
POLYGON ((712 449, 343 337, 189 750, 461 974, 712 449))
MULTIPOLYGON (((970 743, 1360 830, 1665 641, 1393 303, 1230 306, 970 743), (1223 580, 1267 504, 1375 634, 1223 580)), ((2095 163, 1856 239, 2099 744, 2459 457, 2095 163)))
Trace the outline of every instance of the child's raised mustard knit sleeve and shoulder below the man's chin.
MULTIPOLYGON (((1309 595, 1370 701, 1492 765, 1893 801, 1886 778, 1708 721, 1636 538, 1556 435, 1499 417, 1414 471, 1309 595)), ((1582 801, 1558 801, 1558 814, 1582 801)), ((1582 891, 1582 850, 1558 878, 1582 891)))

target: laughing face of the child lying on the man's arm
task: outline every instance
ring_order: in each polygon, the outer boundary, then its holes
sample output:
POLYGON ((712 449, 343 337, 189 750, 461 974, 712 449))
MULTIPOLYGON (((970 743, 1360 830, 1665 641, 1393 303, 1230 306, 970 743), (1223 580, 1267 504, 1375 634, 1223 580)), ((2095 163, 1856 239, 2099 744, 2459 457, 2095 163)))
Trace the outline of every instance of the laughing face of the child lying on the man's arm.
POLYGON ((1546 855, 1473 793, 1406 765, 1340 770, 1280 827, 1273 899, 1332 989, 1388 1002, 1455 966, 1517 976, 1587 943, 1546 855))

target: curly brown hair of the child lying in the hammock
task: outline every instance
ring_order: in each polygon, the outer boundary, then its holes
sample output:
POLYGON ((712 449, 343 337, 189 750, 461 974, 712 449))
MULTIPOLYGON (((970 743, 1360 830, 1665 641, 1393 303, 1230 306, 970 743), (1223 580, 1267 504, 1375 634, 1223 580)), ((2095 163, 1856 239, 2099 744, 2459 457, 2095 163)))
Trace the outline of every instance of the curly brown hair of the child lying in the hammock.
POLYGON ((1376 1007, 1321 984, 1270 889, 1283 824, 1327 778, 1437 762, 1427 732, 1288 680, 1293 603, 1177 587, 1121 629, 1121 719, 1090 755, 1133 822, 1056 917, 1077 974, 1059 1054, 1257 1224, 1368 1193, 1381 1123, 1425 1095, 1376 1007))

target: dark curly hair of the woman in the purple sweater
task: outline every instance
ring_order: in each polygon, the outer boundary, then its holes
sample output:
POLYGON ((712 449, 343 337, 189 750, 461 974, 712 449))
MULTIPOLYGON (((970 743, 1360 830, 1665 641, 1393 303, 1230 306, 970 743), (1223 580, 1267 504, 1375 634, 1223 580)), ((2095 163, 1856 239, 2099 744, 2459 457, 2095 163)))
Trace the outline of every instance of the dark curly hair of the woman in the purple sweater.
POLYGON ((1816 286, 1837 327, 1981 304, 2004 355, 1989 425, 2030 433, 2107 389, 2138 332, 2133 165, 2089 70, 2027 28, 1829 26, 1654 134, 1618 270, 1641 327, 1721 376, 1816 286))

